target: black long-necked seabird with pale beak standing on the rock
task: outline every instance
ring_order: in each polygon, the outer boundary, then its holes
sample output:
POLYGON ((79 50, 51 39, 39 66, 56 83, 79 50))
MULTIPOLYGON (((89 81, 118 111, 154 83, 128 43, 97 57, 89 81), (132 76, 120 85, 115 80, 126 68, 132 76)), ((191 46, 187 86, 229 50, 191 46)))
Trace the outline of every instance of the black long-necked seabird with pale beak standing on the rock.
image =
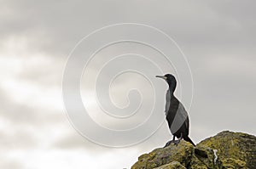
POLYGON ((173 138, 166 143, 165 147, 172 143, 176 145, 179 144, 182 138, 195 146, 193 141, 189 138, 189 115, 183 107, 183 104, 181 104, 173 94, 177 86, 175 77, 170 74, 156 77, 165 79, 169 85, 166 92, 166 121, 168 122, 173 138), (175 140, 175 137, 178 139, 175 140))

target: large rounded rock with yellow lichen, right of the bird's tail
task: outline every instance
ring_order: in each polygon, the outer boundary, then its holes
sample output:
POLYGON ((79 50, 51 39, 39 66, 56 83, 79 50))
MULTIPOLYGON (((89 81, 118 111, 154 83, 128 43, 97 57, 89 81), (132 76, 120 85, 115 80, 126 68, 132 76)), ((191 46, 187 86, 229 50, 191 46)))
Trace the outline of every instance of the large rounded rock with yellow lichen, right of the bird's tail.
POLYGON ((242 132, 224 131, 201 141, 196 145, 198 146, 217 149, 216 154, 223 162, 224 168, 256 168, 255 136, 242 132))

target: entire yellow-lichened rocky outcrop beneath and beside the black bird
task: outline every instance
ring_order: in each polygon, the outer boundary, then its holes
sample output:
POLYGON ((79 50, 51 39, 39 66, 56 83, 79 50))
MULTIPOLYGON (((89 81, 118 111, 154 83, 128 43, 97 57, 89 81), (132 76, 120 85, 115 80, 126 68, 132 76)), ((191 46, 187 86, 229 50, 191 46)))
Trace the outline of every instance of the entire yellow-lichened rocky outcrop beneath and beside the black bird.
POLYGON ((195 147, 181 141, 178 146, 154 149, 141 155, 131 169, 256 169, 256 137, 242 132, 219 132, 195 147))

